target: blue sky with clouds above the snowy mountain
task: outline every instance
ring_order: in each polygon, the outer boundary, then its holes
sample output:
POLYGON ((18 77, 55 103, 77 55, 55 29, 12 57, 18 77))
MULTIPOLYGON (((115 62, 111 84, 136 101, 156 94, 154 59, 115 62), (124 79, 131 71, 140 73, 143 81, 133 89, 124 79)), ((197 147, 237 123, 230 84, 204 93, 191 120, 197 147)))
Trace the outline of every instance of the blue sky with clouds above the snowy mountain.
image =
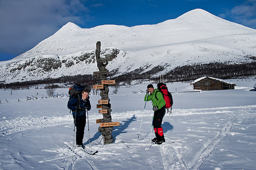
POLYGON ((30 50, 69 21, 81 28, 152 25, 197 8, 256 29, 256 0, 0 0, 0 61, 30 50))

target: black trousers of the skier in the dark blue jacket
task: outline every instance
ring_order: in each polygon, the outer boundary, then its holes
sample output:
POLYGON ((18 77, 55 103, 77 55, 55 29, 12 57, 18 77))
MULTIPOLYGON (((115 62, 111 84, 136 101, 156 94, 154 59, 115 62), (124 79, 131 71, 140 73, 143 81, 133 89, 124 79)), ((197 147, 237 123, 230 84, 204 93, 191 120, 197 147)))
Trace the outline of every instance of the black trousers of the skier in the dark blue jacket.
POLYGON ((74 124, 76 126, 76 144, 82 145, 84 128, 86 127, 86 114, 83 114, 81 116, 73 115, 73 118, 74 118, 74 124))

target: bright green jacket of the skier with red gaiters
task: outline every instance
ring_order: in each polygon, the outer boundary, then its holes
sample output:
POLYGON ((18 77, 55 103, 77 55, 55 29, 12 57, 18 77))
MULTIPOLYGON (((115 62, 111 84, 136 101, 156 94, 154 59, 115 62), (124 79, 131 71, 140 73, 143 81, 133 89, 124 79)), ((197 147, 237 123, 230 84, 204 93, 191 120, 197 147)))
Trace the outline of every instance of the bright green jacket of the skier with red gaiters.
POLYGON ((144 101, 152 101, 152 105, 156 106, 158 109, 161 109, 162 107, 165 106, 165 101, 163 99, 163 94, 159 91, 158 89, 155 89, 154 92, 150 95, 148 95, 147 99, 145 95, 144 101), (156 99, 156 95, 157 95, 157 99, 156 99))

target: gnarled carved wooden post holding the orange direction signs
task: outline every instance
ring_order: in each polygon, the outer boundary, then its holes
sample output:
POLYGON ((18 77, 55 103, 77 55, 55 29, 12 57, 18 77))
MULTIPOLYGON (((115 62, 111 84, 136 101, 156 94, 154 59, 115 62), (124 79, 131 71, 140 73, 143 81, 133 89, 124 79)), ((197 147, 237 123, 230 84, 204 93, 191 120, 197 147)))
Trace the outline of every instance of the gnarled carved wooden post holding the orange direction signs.
MULTIPOLYGON (((97 42, 96 44, 96 60, 97 60, 97 67, 99 68, 100 72, 109 72, 105 67, 108 65, 108 61, 106 63, 102 63, 100 59, 100 41, 97 42)), ((106 75, 100 75, 100 80, 106 80, 106 75)), ((110 105, 110 99, 109 99, 109 85, 104 84, 103 89, 100 89, 100 96, 101 100, 107 100, 108 104, 102 105, 102 110, 106 109, 107 113, 102 114, 103 118, 100 119, 101 123, 109 123, 112 122, 111 118, 111 105, 110 105)), ((102 134, 103 136, 103 143, 104 144, 109 144, 113 142, 113 136, 112 136, 112 131, 113 127, 99 127, 98 131, 102 134)))

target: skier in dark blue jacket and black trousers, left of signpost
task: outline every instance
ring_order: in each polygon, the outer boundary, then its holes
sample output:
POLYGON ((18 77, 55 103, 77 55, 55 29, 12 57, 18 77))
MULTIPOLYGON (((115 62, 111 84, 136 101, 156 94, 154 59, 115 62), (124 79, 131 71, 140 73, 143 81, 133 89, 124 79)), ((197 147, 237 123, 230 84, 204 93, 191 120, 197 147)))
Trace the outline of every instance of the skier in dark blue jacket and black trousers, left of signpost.
POLYGON ((76 144, 83 147, 82 139, 86 127, 86 110, 91 110, 89 91, 83 90, 77 96, 70 96, 68 108, 72 110, 76 126, 76 144))

